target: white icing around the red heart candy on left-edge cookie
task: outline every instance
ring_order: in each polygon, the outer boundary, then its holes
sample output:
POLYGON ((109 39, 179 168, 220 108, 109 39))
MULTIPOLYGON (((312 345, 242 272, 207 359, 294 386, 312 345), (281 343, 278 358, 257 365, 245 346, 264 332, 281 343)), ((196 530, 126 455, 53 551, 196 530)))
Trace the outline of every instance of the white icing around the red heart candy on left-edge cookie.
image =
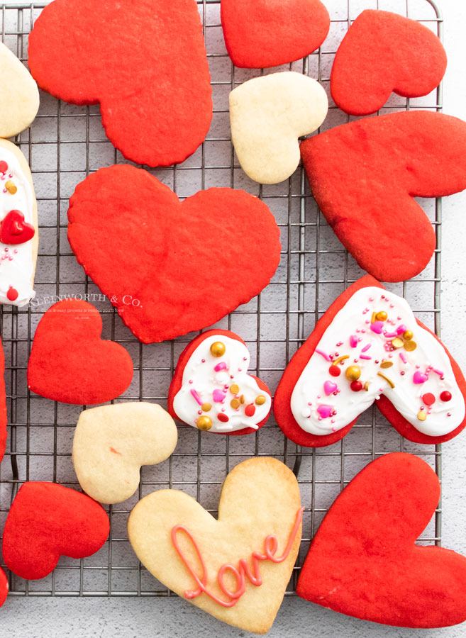
MULTIPOLYGON (((6 172, 0 172, 0 221, 10 211, 16 210, 23 213, 26 223, 34 225, 33 189, 19 165, 18 158, 6 148, 0 147, 0 162, 8 164, 6 172), (11 188, 9 182, 16 186, 16 193, 12 194, 6 188, 7 184, 11 188)), ((33 272, 33 240, 11 245, 0 242, 0 303, 24 306, 33 299, 33 272), (16 299, 7 296, 10 290, 18 292, 16 299)))

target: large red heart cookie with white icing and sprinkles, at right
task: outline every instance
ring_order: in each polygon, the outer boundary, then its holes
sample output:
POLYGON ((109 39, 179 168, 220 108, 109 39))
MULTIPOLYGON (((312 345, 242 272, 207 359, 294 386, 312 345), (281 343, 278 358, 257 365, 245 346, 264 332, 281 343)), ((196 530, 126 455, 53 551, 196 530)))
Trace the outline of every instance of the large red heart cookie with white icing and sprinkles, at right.
POLYGON ((367 275, 348 288, 294 354, 274 396, 292 441, 342 439, 374 401, 398 432, 442 443, 466 425, 466 381, 448 350, 408 303, 367 275))

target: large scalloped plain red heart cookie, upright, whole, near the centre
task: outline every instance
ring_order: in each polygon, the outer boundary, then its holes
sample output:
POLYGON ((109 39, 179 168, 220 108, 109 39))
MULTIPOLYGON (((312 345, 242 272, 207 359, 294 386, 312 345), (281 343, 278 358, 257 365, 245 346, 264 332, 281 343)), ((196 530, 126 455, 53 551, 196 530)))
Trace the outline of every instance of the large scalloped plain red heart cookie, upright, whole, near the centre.
POLYGON ((280 259, 265 203, 232 189, 180 202, 119 164, 78 184, 68 238, 77 260, 144 343, 212 325, 267 286, 280 259))

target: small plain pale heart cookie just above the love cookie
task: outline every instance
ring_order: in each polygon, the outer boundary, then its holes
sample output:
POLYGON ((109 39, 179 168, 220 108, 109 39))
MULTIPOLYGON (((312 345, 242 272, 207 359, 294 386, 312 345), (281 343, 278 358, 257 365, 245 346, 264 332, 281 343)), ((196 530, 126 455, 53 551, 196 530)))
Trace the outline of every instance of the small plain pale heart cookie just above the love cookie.
POLYGON ((115 403, 84 410, 72 459, 79 485, 100 503, 121 503, 138 489, 140 467, 170 457, 177 426, 156 403, 115 403))

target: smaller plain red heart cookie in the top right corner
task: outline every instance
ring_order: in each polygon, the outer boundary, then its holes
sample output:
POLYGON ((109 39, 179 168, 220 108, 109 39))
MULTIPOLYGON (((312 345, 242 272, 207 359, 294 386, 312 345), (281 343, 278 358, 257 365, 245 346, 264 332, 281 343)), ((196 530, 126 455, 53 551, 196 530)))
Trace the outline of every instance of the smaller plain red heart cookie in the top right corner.
POLYGON ((446 68, 445 49, 431 29, 397 13, 367 9, 338 47, 331 94, 346 113, 367 115, 382 108, 392 91, 427 95, 446 68))

